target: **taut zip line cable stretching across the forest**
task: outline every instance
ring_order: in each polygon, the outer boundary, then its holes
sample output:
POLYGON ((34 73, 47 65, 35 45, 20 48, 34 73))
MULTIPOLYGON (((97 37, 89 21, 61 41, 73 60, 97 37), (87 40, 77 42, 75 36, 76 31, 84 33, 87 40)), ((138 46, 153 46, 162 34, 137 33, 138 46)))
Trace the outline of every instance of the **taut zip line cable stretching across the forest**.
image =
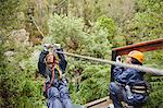
MULTIPOLYGON (((40 31, 39 26, 36 24, 36 22, 35 22, 35 20, 34 20, 33 16, 32 16, 32 20, 33 20, 35 26, 37 27, 37 29, 42 35, 42 37, 45 37, 43 33, 40 31)), ((124 68, 133 68, 133 69, 140 70, 142 72, 151 73, 151 74, 155 74, 155 75, 163 75, 163 70, 158 70, 158 69, 154 69, 154 68, 148 68, 148 67, 136 65, 136 64, 127 64, 127 63, 115 62, 115 61, 110 61, 110 60, 104 60, 104 59, 99 59, 99 58, 92 58, 92 57, 87 57, 87 56, 80 56, 80 55, 70 53, 70 52, 62 52, 62 51, 55 51, 55 52, 67 55, 67 56, 71 56, 71 57, 76 57, 76 58, 83 58, 83 59, 87 59, 87 60, 92 60, 92 61, 97 61, 97 62, 102 62, 102 63, 108 63, 108 64, 124 67, 124 68)))

